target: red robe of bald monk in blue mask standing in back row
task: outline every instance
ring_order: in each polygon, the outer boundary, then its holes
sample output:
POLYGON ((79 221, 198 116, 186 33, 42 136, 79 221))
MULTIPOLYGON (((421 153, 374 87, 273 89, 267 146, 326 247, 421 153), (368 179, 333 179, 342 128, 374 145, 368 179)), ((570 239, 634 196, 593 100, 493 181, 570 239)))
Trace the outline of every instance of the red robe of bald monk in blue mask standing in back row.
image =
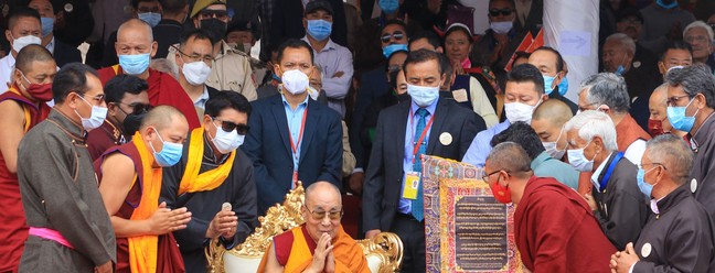
MULTIPOLYGON (((106 85, 109 79, 124 74, 121 66, 119 65, 102 68, 97 73, 99 74, 102 85, 106 85)), ((147 78, 147 83, 149 84, 149 90, 147 90, 149 94, 149 102, 151 102, 152 106, 172 106, 179 109, 179 111, 186 117, 186 121, 189 121, 189 130, 201 127, 193 101, 189 98, 189 95, 186 95, 177 79, 169 74, 149 68, 149 78, 147 78)))

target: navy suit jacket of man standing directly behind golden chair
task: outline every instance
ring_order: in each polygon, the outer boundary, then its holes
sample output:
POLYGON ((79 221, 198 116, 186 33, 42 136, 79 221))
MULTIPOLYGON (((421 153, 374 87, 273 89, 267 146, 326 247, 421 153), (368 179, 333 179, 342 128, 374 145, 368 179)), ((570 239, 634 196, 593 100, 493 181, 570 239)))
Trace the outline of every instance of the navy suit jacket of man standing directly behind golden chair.
MULTIPOLYGON (((280 95, 256 100, 248 119, 250 130, 241 148, 254 163, 258 215, 282 203, 290 190, 294 162, 286 110, 280 95)), ((300 142, 298 179, 307 187, 327 181, 342 188, 342 124, 327 106, 308 99, 308 114, 300 142)))

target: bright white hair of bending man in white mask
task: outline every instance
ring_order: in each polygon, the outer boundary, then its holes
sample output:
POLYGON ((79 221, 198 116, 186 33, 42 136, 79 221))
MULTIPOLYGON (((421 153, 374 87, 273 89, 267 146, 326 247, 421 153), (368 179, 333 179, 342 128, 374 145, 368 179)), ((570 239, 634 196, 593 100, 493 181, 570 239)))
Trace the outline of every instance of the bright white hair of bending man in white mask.
POLYGON ((578 130, 578 138, 590 142, 594 136, 599 136, 606 150, 618 151, 616 125, 608 114, 595 110, 583 111, 564 127, 567 132, 574 129, 578 130))

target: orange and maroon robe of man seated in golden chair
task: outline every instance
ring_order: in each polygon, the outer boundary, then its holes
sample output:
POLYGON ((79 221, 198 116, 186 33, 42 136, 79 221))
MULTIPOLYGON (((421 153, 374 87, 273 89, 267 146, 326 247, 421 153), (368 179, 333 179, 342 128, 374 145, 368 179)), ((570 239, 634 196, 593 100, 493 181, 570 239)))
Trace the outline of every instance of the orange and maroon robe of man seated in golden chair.
MULTIPOLYGON (((275 244, 276 259, 284 266, 284 272, 299 273, 308 269, 312 263, 312 254, 316 251, 317 242, 308 234, 305 223, 276 236, 273 243, 275 244)), ((332 245, 337 273, 370 272, 362 248, 355 243, 352 237, 345 233, 342 226, 338 230, 337 238, 333 238, 332 245)), ((266 252, 264 254, 258 272, 266 270, 268 254, 274 253, 266 252)))

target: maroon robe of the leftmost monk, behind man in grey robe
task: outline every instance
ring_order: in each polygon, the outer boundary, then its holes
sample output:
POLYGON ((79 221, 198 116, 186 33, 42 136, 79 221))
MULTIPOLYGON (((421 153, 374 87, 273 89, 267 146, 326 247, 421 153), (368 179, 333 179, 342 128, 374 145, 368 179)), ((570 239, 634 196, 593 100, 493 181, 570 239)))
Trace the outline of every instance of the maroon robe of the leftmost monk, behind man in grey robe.
MULTIPOLYGON (((39 106, 20 95, 17 86, 0 95, 0 102, 17 101, 24 111, 26 133, 35 124, 47 118, 50 107, 45 102, 39 106)), ((2 113, 0 113, 2 114, 2 113)), ((18 271, 24 241, 28 239, 28 225, 20 197, 18 175, 10 173, 4 157, 0 153, 0 272, 18 271)))

